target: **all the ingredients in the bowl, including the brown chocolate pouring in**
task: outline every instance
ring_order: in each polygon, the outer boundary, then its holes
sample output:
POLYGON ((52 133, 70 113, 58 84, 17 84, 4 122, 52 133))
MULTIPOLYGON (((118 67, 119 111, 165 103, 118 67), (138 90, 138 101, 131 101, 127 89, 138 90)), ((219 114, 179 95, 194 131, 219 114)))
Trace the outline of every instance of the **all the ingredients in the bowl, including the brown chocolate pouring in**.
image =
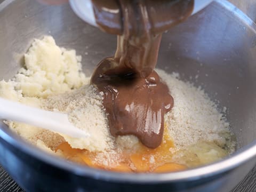
POLYGON ((104 3, 93 1, 95 17, 102 29, 118 34, 117 51, 91 78, 75 50, 45 36, 25 54, 25 67, 0 82, 0 97, 67 113, 91 137, 6 121, 10 129, 70 161, 121 172, 179 171, 233 153, 229 123, 204 91, 178 74, 154 70, 161 33, 186 19, 193 1, 104 3), (111 22, 102 20, 110 13, 111 22))

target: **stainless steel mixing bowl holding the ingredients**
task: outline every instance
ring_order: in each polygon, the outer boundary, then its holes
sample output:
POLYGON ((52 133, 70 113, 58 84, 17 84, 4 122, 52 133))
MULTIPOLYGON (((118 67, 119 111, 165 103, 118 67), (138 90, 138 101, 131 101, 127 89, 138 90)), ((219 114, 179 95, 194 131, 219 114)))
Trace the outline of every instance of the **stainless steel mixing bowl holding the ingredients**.
MULTIPOLYGON (((116 37, 86 25, 69 5, 6 0, 0 5, 0 78, 17 73, 33 38, 47 34, 83 56, 87 75, 115 51, 116 37)), ((179 72, 228 108, 238 146, 222 161, 166 174, 94 170, 44 153, 0 122, 0 163, 26 191, 229 191, 256 163, 255 46, 254 23, 223 0, 163 35, 157 67, 179 72)))

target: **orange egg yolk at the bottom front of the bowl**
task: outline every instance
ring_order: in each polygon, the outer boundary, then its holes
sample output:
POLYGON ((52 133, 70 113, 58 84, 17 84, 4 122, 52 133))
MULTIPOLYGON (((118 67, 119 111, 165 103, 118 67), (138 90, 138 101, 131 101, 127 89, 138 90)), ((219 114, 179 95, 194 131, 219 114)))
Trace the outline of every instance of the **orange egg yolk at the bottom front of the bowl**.
POLYGON ((139 144, 139 149, 133 153, 124 153, 125 161, 116 166, 106 167, 106 165, 93 161, 97 154, 90 153, 87 150, 73 149, 67 142, 61 143, 57 150, 61 150, 67 159, 76 159, 79 163, 97 169, 117 171, 117 172, 173 172, 187 169, 185 165, 173 163, 170 149, 173 148, 173 142, 164 133, 163 141, 160 146, 155 149, 150 149, 142 144, 139 144), (79 159, 79 160, 78 160, 79 159))

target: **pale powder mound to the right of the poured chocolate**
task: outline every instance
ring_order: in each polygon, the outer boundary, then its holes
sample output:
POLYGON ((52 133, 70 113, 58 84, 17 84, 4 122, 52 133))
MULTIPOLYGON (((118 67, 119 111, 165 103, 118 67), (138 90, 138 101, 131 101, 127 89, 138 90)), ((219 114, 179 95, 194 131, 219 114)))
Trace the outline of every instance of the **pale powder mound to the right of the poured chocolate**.
POLYGON ((213 141, 225 147, 231 139, 229 123, 204 91, 180 81, 177 73, 169 75, 159 69, 157 73, 174 99, 174 107, 166 114, 165 122, 177 149, 198 141, 213 141))

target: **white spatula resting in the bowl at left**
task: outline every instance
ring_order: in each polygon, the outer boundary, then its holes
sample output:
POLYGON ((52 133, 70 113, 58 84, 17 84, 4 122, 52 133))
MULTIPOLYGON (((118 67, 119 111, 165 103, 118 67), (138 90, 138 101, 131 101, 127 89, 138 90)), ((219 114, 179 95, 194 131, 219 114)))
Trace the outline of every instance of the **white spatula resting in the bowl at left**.
POLYGON ((29 107, 3 98, 0 98, 0 119, 34 125, 74 138, 86 138, 90 136, 89 133, 71 124, 67 114, 29 107))

